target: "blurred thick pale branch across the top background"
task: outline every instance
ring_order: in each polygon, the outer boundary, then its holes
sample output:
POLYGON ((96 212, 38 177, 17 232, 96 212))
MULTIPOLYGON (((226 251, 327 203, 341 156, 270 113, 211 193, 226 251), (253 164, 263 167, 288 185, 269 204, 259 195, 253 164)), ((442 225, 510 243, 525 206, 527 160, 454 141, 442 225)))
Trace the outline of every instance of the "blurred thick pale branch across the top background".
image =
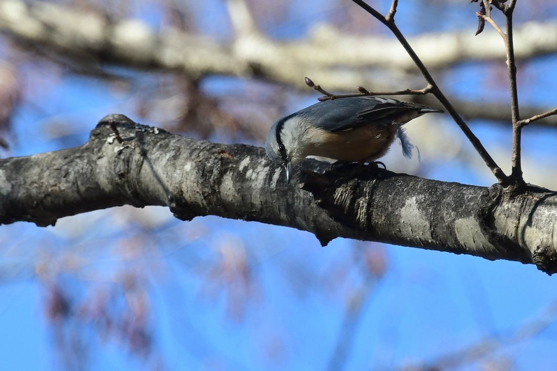
MULTIPOLYGON (((236 17, 238 21, 241 18, 236 17)), ((108 20, 102 14, 79 12, 60 3, 0 0, 0 29, 30 50, 42 46, 52 53, 63 54, 66 59, 74 58, 82 65, 84 62, 97 67, 123 64, 140 69, 178 70, 190 76, 257 75, 301 88, 305 86, 300 75, 309 74, 319 75, 323 84, 324 76, 329 76, 329 81, 339 81, 335 89, 342 89, 340 81, 346 81, 345 90, 358 84, 369 86, 366 82, 369 74, 346 69, 339 72, 338 66, 356 67, 359 71, 377 66, 414 69, 411 58, 401 58, 400 46, 391 38, 351 35, 330 25, 315 27, 305 40, 276 42, 260 34, 240 37, 241 42, 230 48, 178 28, 162 27, 155 32, 138 19, 108 20), (12 7, 21 11, 13 11, 12 7), (360 81, 353 82, 356 79, 360 81)), ((555 23, 525 23, 514 34, 517 58, 557 51, 555 23)), ((500 36, 492 30, 483 32, 479 47, 470 31, 435 33, 407 40, 430 69, 466 60, 506 57, 505 51, 499 48, 500 36)), ((332 89, 331 82, 329 86, 332 89)))

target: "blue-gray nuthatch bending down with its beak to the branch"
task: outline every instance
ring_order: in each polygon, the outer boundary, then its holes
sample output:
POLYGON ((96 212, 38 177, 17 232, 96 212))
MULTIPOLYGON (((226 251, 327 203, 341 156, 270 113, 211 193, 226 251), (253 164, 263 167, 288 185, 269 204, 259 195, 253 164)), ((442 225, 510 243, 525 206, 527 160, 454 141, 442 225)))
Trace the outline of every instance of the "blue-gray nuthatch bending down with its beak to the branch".
POLYGON ((372 162, 382 157, 398 136, 404 157, 414 146, 402 125, 429 112, 422 104, 373 96, 329 99, 285 116, 271 127, 265 142, 272 162, 286 170, 307 156, 348 162, 372 162))

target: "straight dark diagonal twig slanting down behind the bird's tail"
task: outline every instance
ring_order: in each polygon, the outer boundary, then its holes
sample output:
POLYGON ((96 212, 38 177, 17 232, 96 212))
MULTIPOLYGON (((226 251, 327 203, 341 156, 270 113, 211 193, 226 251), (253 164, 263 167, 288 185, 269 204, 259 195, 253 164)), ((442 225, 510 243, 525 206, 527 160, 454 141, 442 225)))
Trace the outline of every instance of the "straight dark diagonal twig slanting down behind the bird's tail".
POLYGON ((432 86, 431 87, 432 94, 439 100, 439 102, 441 102, 441 104, 447 110, 447 113, 451 115, 453 120, 455 120, 456 124, 461 128, 461 130, 464 132, 468 140, 470 140, 470 143, 472 143, 473 147, 476 149, 478 154, 480 154, 481 158, 486 163, 487 167, 490 168, 491 171, 494 173, 499 183, 503 184, 504 186, 507 186, 509 184, 509 178, 507 177, 507 175, 503 172, 503 170, 499 167, 499 165, 497 165, 495 160, 483 147, 481 141, 477 138, 477 136, 474 135, 474 133, 472 133, 472 130, 470 130, 470 128, 468 128, 468 125, 466 125, 465 121, 462 120, 460 115, 458 115, 455 108, 451 105, 451 102, 449 102, 447 98, 443 95, 443 93, 437 86, 436 82, 433 80, 433 77, 431 76, 431 74, 429 74, 429 71, 427 70, 426 66, 424 66, 423 62, 420 60, 416 52, 414 52, 412 47, 409 45, 408 41, 404 38, 402 32, 400 32, 398 27, 395 25, 394 21, 390 21, 390 22, 387 21, 387 18, 383 17, 381 13, 376 11, 373 7, 369 6, 367 3, 363 2, 363 0, 352 0, 352 1, 358 4, 361 8, 363 8, 368 13, 372 14, 372 16, 377 18, 385 26, 389 27, 389 30, 393 32, 394 36, 397 37, 400 44, 404 47, 408 55, 414 61, 414 64, 416 64, 420 72, 422 72, 422 75, 424 79, 426 79, 428 85, 432 86))

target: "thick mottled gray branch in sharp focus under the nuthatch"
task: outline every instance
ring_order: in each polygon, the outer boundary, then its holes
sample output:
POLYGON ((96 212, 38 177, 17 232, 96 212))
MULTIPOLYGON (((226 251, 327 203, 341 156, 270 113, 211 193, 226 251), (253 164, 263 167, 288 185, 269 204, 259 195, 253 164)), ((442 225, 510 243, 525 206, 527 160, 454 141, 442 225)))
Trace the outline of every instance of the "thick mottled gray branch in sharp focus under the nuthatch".
POLYGON ((285 182, 262 148, 223 145, 102 119, 80 147, 0 160, 0 222, 53 224, 130 204, 168 206, 184 220, 208 214, 336 237, 395 243, 556 270, 557 193, 511 195, 367 167, 339 177, 306 160, 285 182), (108 123, 118 128, 116 140, 108 123))

